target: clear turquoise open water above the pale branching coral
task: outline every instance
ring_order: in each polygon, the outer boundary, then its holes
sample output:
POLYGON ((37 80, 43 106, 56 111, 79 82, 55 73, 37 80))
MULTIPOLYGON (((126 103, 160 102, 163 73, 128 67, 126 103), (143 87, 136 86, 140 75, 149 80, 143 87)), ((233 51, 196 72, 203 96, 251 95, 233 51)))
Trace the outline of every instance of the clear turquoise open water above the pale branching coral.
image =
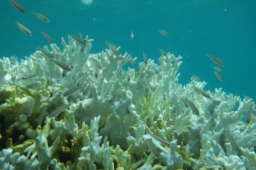
MULTIPOLYGON (((61 37, 68 34, 89 35, 92 53, 108 48, 105 41, 121 46, 138 62, 143 51, 148 58, 158 59, 159 49, 182 55, 179 83, 190 82, 193 74, 208 84, 204 90, 223 87, 227 93, 248 95, 256 99, 256 1, 135 1, 94 0, 85 6, 80 0, 18 0, 27 14, 18 12, 7 0, 0 1, 1 57, 33 54, 35 49, 49 45, 40 31, 49 34, 62 48, 61 37), (42 22, 32 12, 44 14, 50 23, 42 22), (25 35, 15 24, 27 26, 33 36, 25 35), (161 35, 158 30, 169 32, 161 35), (131 30, 134 39, 130 40, 131 30), (216 66, 209 52, 220 57, 225 66, 220 81, 214 74, 216 66)), ((126 64, 124 69, 132 67, 126 64)))

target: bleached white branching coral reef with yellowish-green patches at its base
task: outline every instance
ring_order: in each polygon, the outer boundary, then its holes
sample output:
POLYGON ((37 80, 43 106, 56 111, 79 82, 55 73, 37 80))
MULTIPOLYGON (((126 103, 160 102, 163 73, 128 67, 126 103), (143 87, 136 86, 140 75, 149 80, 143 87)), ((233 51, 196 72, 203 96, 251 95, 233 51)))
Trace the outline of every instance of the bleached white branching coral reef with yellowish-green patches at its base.
POLYGON ((84 41, 44 47, 67 72, 40 51, 0 59, 0 169, 256 169, 256 123, 240 121, 255 111, 252 99, 221 89, 206 98, 193 89, 206 83, 194 78, 178 84, 181 56, 124 71, 130 54, 90 54, 93 40, 84 41), (38 75, 22 78, 29 74, 38 75))

